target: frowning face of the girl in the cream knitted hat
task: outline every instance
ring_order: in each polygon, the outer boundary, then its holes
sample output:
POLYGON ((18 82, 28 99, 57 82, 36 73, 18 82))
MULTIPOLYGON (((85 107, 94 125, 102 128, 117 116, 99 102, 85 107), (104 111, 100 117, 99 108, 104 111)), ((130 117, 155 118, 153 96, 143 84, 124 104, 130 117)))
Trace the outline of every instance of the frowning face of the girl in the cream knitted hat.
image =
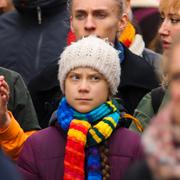
POLYGON ((66 77, 65 96, 74 109, 87 113, 108 100, 108 82, 96 70, 76 68, 66 77))

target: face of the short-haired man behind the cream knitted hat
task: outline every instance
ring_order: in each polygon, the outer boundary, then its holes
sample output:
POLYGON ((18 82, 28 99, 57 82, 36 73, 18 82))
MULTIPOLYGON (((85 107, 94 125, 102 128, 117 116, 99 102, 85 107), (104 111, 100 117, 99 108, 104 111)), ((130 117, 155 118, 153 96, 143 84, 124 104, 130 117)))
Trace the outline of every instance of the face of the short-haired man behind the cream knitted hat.
POLYGON ((73 0, 71 15, 76 39, 95 34, 114 43, 125 26, 116 0, 73 0))

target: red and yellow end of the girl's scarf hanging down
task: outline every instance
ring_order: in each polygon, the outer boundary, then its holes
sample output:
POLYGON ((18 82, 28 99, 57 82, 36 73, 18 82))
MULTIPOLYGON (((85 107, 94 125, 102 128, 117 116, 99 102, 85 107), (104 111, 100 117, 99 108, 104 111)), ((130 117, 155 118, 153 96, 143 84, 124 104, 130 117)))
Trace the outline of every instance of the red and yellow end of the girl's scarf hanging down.
POLYGON ((71 136, 68 135, 67 137, 64 158, 64 180, 84 180, 84 148, 89 127, 87 127, 87 122, 79 121, 79 123, 77 123, 76 121, 74 123, 73 121, 74 120, 70 123, 69 131, 75 129, 82 132, 85 136, 83 140, 78 140, 76 133, 71 134, 71 136))

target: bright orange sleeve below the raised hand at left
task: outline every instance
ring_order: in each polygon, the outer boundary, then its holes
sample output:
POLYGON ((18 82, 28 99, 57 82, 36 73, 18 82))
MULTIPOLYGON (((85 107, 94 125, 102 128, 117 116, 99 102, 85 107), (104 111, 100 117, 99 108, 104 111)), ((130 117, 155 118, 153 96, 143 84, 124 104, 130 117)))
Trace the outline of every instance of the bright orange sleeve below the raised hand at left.
POLYGON ((7 128, 0 129, 0 144, 5 154, 16 160, 26 139, 36 131, 28 131, 24 133, 23 129, 14 119, 12 113, 8 113, 10 115, 11 122, 7 128))

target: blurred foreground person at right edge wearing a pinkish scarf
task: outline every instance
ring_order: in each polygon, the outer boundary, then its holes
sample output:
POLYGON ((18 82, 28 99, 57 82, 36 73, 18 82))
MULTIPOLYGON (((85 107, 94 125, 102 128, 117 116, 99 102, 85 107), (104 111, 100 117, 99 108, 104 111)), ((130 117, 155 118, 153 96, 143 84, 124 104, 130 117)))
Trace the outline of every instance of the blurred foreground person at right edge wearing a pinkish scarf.
MULTIPOLYGON (((172 42, 171 42, 172 43, 172 42)), ((146 161, 133 165, 125 180, 180 179, 180 34, 165 57, 170 100, 142 135, 146 161)))

